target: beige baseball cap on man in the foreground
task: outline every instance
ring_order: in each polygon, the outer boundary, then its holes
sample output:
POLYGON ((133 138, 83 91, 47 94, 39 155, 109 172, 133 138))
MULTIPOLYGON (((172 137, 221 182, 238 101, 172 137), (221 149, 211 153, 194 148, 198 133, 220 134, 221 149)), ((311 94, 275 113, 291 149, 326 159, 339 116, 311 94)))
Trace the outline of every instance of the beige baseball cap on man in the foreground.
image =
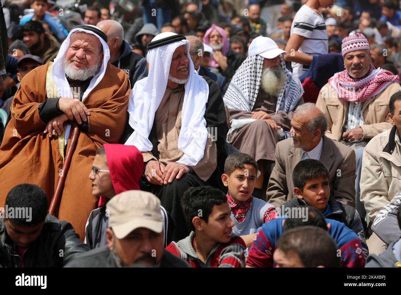
POLYGON ((160 200, 152 193, 132 190, 119 193, 106 204, 109 227, 118 239, 125 238, 137 228, 163 231, 160 200))

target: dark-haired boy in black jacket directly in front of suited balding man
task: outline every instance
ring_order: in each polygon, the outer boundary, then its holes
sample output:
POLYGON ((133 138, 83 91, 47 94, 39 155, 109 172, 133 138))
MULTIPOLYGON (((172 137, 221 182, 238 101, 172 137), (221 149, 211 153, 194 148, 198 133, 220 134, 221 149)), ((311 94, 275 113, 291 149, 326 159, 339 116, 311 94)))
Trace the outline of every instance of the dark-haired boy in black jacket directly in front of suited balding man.
POLYGON ((280 210, 312 206, 325 218, 338 220, 358 235, 365 258, 369 255, 363 226, 358 211, 350 205, 336 201, 330 196, 329 175, 322 162, 315 159, 300 161, 292 172, 292 183, 296 198, 284 203, 280 210))

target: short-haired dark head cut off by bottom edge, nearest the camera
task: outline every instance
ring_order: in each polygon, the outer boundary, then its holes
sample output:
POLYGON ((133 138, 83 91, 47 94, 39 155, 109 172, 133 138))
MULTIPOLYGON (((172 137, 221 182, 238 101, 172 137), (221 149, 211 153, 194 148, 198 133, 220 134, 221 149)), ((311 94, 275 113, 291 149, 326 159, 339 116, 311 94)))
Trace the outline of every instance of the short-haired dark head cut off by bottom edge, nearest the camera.
POLYGON ((337 254, 338 246, 327 230, 303 226, 280 236, 273 259, 276 267, 340 267, 337 254))

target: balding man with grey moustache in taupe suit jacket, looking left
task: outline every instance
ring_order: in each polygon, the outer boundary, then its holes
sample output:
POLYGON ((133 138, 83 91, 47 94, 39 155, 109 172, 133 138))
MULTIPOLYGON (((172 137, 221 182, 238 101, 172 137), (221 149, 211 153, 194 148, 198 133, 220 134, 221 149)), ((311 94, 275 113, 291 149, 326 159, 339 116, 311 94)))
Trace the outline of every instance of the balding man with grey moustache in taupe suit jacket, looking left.
POLYGON ((329 171, 330 196, 355 207, 355 152, 326 137, 326 129, 327 119, 314 104, 298 106, 291 120, 291 138, 279 141, 275 149, 275 166, 266 194, 276 208, 296 197, 291 175, 304 159, 322 162, 329 171))

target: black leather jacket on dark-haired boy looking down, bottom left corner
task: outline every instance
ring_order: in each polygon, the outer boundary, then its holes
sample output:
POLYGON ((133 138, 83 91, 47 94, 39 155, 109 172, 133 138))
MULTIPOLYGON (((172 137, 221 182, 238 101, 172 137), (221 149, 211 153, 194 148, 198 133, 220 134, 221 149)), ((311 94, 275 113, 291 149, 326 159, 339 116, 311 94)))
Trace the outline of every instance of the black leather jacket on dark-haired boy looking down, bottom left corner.
MULTIPOLYGON (((50 214, 45 219, 41 234, 24 252, 24 267, 63 267, 75 256, 89 251, 82 244, 71 224, 50 214)), ((17 247, 6 232, 6 224, 0 219, 0 266, 20 267, 17 247)))

